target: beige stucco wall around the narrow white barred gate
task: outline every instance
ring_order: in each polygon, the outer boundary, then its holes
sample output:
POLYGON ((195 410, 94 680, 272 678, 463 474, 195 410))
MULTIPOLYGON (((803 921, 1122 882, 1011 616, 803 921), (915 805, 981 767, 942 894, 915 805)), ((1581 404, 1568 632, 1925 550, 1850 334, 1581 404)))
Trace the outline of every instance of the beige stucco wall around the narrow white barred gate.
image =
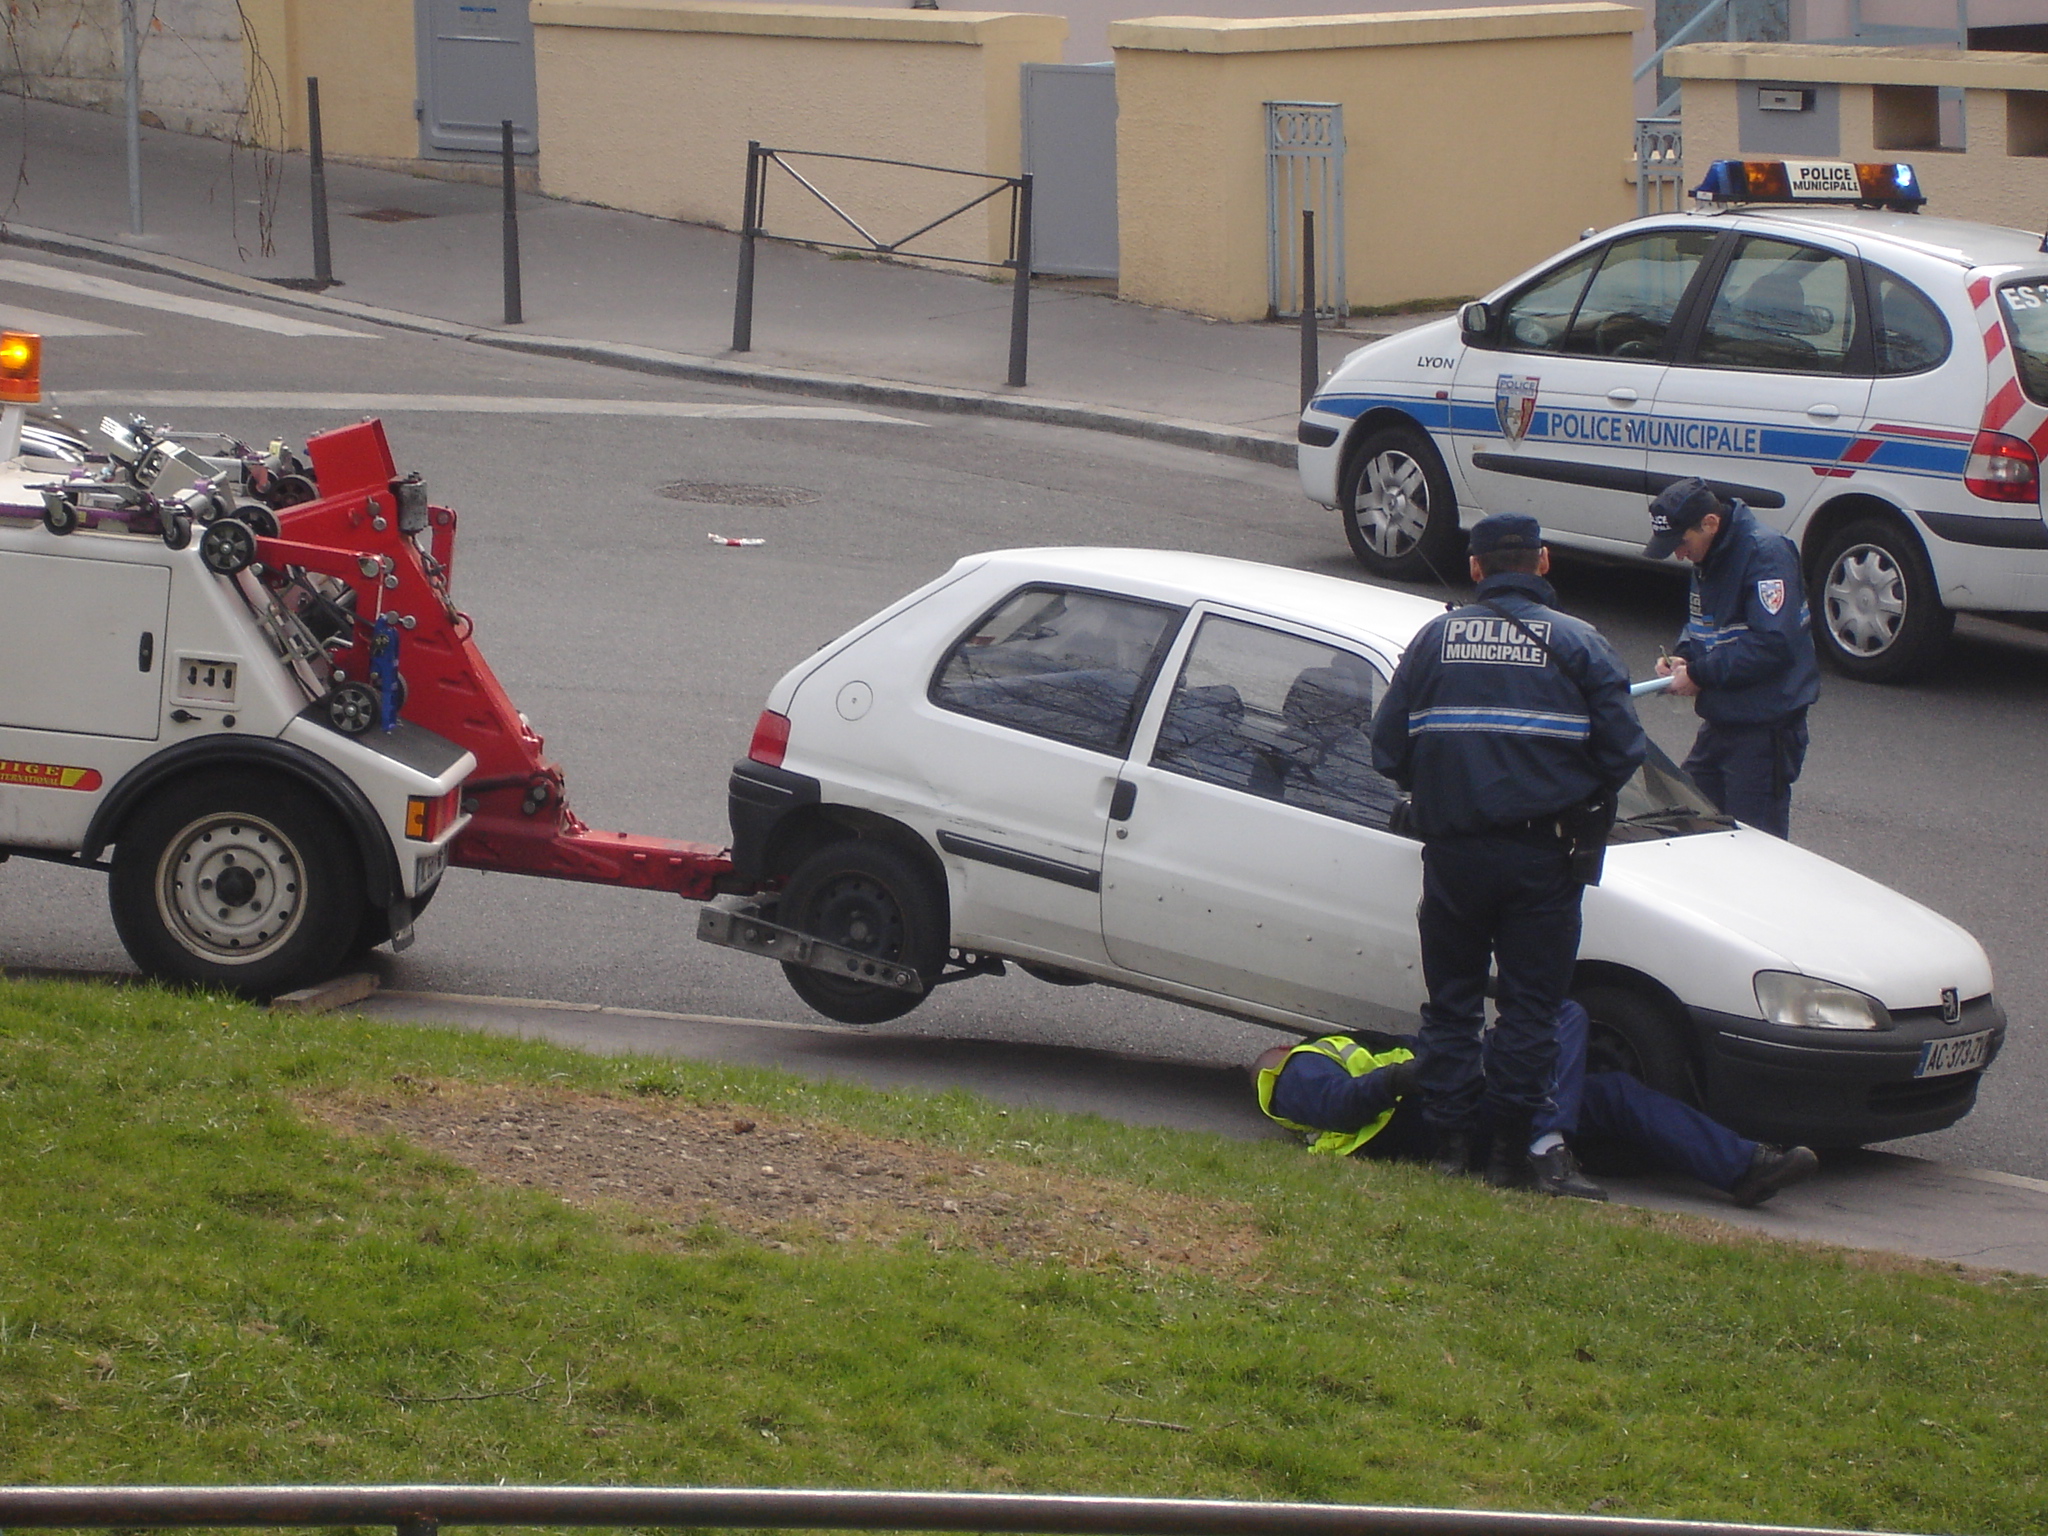
POLYGON ((1350 303, 1483 293, 1634 213, 1622 4, 1110 27, 1120 291, 1268 311, 1266 102, 1343 102, 1350 303))

